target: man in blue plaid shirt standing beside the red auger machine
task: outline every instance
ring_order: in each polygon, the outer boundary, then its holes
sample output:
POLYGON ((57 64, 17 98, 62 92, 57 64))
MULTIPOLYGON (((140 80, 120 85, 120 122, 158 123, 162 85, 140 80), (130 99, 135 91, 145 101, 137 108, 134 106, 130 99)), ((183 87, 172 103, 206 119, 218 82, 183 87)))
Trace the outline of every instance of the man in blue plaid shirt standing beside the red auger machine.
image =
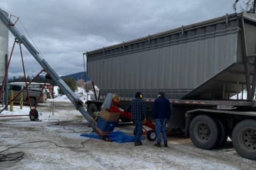
POLYGON ((126 111, 131 111, 132 113, 132 120, 135 124, 134 129, 134 145, 139 146, 142 145, 140 140, 140 136, 142 135, 142 124, 146 123, 146 105, 145 102, 142 100, 143 95, 140 92, 135 94, 135 99, 131 101, 128 105, 126 111))

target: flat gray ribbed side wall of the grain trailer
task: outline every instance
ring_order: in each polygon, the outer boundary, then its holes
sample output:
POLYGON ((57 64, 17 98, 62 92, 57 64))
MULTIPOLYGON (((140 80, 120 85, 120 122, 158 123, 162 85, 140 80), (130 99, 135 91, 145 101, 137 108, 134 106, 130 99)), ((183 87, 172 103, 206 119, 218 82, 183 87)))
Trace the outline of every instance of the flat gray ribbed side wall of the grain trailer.
POLYGON ((87 53, 88 74, 103 93, 133 97, 182 98, 237 62, 238 22, 208 23, 194 29, 87 53))

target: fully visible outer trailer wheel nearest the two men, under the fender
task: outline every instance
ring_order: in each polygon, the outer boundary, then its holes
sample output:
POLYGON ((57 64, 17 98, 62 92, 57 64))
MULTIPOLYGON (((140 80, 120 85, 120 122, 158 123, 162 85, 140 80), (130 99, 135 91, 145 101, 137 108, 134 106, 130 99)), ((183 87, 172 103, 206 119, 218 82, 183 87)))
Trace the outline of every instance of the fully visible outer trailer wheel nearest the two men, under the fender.
POLYGON ((189 134, 196 147, 211 149, 218 139, 217 124, 207 115, 196 116, 189 126, 189 134))

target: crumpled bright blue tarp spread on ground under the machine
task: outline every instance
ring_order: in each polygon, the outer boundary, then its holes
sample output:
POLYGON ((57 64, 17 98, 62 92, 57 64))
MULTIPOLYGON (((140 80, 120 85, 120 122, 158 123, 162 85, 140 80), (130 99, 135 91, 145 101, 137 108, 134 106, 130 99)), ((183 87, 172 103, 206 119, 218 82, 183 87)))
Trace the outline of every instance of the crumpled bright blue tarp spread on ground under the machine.
MULTIPOLYGON (((89 138, 94 138, 94 139, 101 139, 99 137, 99 135, 97 133, 93 133, 93 134, 81 134, 80 136, 86 136, 89 138)), ((124 142, 134 142, 134 136, 131 135, 127 135, 122 131, 115 131, 115 132, 111 132, 108 135, 108 138, 113 140, 114 142, 118 142, 118 143, 124 143, 124 142)), ((145 139, 144 137, 140 138, 141 140, 145 139)))

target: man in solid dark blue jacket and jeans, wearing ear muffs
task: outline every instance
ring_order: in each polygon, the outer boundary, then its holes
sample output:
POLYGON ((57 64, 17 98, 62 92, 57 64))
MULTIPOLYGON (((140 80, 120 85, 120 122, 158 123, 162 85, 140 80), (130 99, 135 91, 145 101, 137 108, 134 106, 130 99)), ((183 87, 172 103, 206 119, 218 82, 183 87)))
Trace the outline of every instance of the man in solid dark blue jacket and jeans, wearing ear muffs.
POLYGON ((161 132, 163 134, 164 146, 167 145, 166 120, 170 120, 171 108, 170 101, 165 98, 165 93, 159 92, 158 98, 153 103, 153 119, 155 119, 157 143, 155 146, 161 147, 161 132))

